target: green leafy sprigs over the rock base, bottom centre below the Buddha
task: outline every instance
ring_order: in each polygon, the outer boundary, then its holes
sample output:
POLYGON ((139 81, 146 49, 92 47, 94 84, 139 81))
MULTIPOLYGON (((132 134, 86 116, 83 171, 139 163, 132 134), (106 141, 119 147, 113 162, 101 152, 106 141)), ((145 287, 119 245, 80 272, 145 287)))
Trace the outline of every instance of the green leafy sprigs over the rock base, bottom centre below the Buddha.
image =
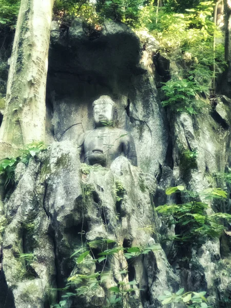
MULTIPOLYGON (((160 245, 153 245, 150 247, 117 247, 115 242, 110 239, 103 240, 95 240, 88 243, 89 248, 80 248, 75 251, 71 258, 75 257, 75 261, 77 264, 83 264, 86 266, 87 264, 98 264, 101 266, 102 271, 93 273, 90 275, 81 275, 75 274, 68 278, 68 282, 63 291, 66 291, 66 294, 62 297, 69 298, 71 296, 81 297, 86 295, 89 291, 97 292, 99 288, 104 288, 104 282, 107 279, 110 279, 112 273, 108 270, 106 264, 108 258, 115 258, 119 261, 119 263, 123 264, 122 260, 125 258, 126 260, 130 260, 133 262, 135 258, 142 254, 148 254, 151 251, 156 251, 160 249, 160 245), (112 245, 113 244, 113 245, 112 245), (114 247, 109 248, 109 245, 114 247), (94 255, 93 250, 95 248, 100 248, 101 252, 98 255, 94 255), (105 249, 106 248, 106 249, 105 249), (92 258, 89 257, 92 256, 92 258), (75 288, 75 293, 71 290, 75 288)), ((124 275, 127 275, 128 265, 126 267, 121 267, 120 272, 118 273, 123 278, 124 275)), ((123 279, 118 281, 117 285, 109 288, 109 294, 107 294, 107 304, 105 307, 129 307, 129 303, 134 302, 132 292, 137 291, 137 282, 135 280, 130 282, 125 282, 123 279)), ((61 301, 59 304, 53 304, 52 307, 63 307, 65 306, 66 301, 61 301)))

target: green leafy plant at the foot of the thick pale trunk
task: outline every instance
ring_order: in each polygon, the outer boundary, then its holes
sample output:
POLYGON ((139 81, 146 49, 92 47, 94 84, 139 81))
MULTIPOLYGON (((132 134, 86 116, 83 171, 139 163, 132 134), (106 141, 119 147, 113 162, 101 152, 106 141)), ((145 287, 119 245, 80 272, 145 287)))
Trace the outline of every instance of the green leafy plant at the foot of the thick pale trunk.
POLYGON ((9 184, 14 184, 14 171, 19 162, 28 165, 31 157, 35 157, 39 152, 45 150, 44 142, 33 142, 26 145, 24 150, 21 150, 20 156, 13 158, 5 158, 0 161, 0 174, 2 173, 5 179, 5 187, 9 184))

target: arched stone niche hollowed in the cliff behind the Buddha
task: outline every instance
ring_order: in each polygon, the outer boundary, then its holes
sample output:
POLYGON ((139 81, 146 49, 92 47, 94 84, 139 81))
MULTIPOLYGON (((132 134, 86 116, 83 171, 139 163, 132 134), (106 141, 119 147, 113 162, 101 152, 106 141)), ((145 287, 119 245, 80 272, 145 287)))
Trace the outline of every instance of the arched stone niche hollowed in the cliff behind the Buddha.
POLYGON ((89 31, 82 20, 51 29, 47 82, 47 142, 74 141, 93 128, 92 102, 110 95, 119 128, 131 133, 138 165, 158 173, 167 133, 156 86, 142 62, 138 36, 126 25, 107 22, 89 31), (154 155, 155 152, 155 155, 154 155))

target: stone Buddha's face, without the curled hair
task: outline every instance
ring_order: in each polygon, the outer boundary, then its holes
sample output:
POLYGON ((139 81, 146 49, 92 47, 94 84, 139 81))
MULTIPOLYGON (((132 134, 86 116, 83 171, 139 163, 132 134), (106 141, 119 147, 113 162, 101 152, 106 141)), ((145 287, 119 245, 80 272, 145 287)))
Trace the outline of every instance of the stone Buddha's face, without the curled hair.
POLYGON ((105 126, 113 121, 113 106, 110 103, 96 104, 93 108, 95 126, 105 126))

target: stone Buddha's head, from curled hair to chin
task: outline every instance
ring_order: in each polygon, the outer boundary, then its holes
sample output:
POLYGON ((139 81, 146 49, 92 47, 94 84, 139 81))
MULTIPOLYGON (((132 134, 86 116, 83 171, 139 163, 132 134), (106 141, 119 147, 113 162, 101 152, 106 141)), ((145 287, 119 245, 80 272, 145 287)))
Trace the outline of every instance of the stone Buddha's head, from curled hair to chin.
POLYGON ((95 126, 112 126, 117 120, 117 108, 108 95, 102 95, 92 106, 95 126))

